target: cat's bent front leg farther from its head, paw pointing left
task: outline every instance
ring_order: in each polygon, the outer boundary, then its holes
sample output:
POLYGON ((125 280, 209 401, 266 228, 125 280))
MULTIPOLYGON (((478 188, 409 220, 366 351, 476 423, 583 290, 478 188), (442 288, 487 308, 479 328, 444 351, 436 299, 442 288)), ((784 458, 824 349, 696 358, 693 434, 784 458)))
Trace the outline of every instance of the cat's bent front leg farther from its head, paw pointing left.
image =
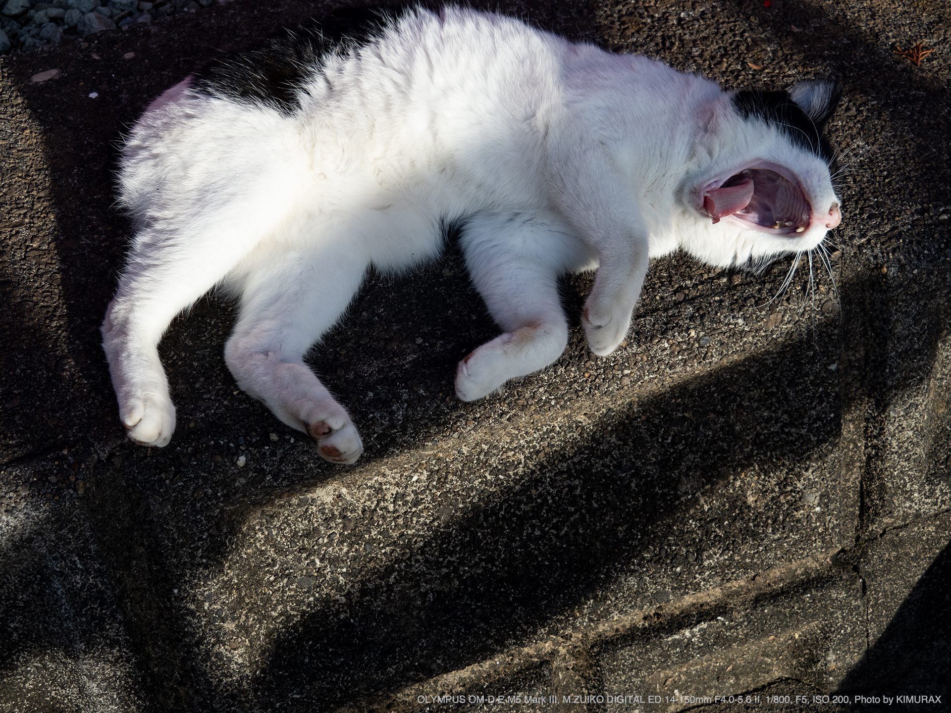
POLYGON ((563 225, 544 217, 476 214, 461 243, 470 277, 503 330, 456 369, 456 395, 474 401, 561 356, 568 322, 557 280, 590 257, 563 225))

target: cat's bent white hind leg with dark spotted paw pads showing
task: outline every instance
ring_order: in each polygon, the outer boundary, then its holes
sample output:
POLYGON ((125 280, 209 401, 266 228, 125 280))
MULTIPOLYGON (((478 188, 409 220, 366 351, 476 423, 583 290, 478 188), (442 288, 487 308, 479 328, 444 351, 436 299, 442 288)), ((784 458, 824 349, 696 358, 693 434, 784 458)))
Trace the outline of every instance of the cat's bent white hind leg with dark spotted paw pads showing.
POLYGON ((320 455, 333 463, 355 462, 363 444, 303 356, 340 318, 368 263, 347 241, 262 256, 246 279, 241 318, 224 349, 238 385, 316 438, 320 455))

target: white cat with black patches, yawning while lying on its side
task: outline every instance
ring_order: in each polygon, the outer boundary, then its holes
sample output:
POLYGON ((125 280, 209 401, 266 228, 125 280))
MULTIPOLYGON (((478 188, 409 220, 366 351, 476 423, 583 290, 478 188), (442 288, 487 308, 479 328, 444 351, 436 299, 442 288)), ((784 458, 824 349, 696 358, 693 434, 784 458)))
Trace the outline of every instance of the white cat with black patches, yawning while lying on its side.
POLYGON ((102 329, 122 422, 168 443, 157 346, 221 283, 241 297, 225 347, 238 384, 353 463, 357 429, 302 357, 368 266, 433 259, 450 223, 502 329, 459 362, 459 398, 561 355, 564 273, 597 269, 582 323, 611 354, 650 257, 741 264, 810 250, 838 224, 820 135, 837 97, 825 82, 725 93, 457 8, 405 11, 360 43, 301 30, 220 60, 155 100, 123 150, 136 235, 102 329))

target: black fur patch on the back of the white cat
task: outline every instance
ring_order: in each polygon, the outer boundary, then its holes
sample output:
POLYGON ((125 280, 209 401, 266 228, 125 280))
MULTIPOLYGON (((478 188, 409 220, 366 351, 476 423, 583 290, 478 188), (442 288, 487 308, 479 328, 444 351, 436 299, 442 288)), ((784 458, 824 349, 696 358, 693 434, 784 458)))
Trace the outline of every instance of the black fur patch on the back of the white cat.
POLYGON ((193 72, 191 88, 292 114, 301 108, 298 93, 325 58, 366 45, 405 11, 400 7, 336 10, 321 22, 285 30, 257 48, 212 60, 193 72))

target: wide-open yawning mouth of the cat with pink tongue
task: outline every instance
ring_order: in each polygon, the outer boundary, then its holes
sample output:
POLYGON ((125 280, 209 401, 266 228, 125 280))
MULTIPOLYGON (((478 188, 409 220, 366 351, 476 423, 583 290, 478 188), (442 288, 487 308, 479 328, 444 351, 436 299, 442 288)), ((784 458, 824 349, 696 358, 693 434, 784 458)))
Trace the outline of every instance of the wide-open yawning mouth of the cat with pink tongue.
POLYGON ((812 216, 799 180, 779 164, 754 164, 720 176, 704 186, 700 199, 713 222, 731 218, 772 235, 797 236, 812 216))

